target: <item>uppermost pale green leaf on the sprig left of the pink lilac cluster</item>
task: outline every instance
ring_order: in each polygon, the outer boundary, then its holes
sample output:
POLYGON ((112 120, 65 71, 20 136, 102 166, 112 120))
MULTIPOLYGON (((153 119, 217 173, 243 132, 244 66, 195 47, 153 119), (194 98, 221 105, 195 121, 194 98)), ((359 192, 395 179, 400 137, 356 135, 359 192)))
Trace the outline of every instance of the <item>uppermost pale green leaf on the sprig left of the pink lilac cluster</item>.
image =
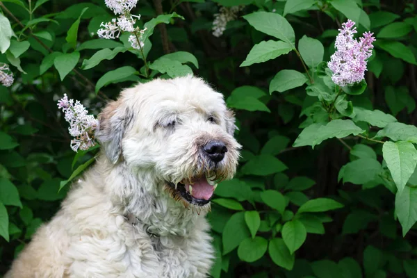
POLYGON ((295 33, 288 21, 277 13, 255 12, 244 15, 244 19, 258 31, 284 40, 295 48, 295 33))

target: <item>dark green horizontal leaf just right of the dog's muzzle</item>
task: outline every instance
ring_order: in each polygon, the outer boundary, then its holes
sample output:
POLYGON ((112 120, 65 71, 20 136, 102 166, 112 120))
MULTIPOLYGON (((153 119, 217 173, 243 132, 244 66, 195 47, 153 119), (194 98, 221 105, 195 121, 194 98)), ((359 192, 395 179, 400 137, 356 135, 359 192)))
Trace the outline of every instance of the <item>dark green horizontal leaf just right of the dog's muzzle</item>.
POLYGON ((268 176, 286 169, 288 167, 275 156, 261 154, 260 156, 254 156, 254 158, 251 158, 250 161, 243 165, 242 172, 256 176, 268 176))

